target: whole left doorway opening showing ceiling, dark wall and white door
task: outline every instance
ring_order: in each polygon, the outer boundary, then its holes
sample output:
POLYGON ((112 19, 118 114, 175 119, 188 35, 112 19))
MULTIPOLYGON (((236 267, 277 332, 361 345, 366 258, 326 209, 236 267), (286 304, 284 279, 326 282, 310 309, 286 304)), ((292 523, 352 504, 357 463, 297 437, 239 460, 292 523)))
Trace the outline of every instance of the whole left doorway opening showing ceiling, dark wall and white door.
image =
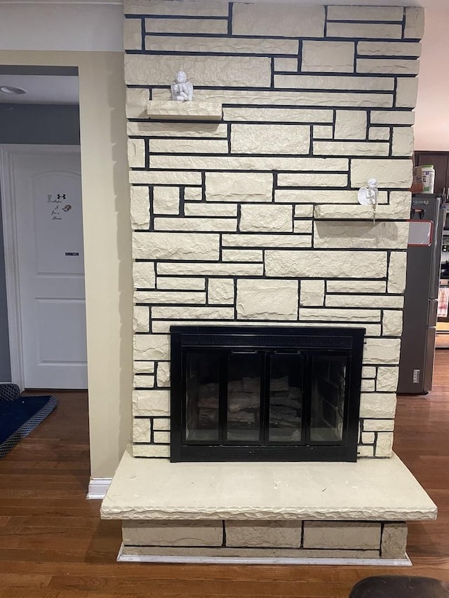
POLYGON ((87 388, 76 67, 0 67, 0 154, 0 381, 87 388))

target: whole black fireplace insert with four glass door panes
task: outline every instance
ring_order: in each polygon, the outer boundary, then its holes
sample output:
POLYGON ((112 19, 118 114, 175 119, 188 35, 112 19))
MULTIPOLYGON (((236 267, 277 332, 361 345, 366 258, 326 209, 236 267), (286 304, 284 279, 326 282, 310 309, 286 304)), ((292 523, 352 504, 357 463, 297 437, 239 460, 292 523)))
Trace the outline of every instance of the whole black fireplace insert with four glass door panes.
POLYGON ((171 461, 356 461, 364 335, 170 327, 171 461))

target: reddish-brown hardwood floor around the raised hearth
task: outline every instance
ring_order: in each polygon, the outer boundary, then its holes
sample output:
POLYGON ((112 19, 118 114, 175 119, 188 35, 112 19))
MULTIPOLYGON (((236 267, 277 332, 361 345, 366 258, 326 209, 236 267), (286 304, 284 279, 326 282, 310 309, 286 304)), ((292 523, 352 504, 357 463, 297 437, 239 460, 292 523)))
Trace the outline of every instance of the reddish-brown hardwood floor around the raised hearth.
POLYGON ((120 524, 86 501, 87 397, 58 408, 0 461, 0 598, 346 598, 377 574, 449 581, 449 351, 434 390, 400 397, 394 449, 438 505, 409 526, 413 567, 117 564, 120 524))

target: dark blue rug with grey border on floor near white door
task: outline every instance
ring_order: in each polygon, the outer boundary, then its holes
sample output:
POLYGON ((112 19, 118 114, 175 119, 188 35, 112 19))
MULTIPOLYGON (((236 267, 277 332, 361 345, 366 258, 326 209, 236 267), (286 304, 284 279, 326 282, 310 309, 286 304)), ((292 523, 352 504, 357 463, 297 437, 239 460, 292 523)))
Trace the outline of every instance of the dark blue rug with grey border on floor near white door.
POLYGON ((51 395, 0 401, 0 458, 39 426, 57 404, 51 395))

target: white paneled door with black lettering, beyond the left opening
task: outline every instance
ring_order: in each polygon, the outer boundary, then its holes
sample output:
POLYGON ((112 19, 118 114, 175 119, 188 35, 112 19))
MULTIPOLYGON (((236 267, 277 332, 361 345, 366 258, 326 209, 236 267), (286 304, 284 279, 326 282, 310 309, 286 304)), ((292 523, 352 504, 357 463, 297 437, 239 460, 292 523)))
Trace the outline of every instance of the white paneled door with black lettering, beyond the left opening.
POLYGON ((15 220, 10 249, 17 252, 23 383, 87 388, 79 147, 27 146, 6 154, 3 200, 15 220))

